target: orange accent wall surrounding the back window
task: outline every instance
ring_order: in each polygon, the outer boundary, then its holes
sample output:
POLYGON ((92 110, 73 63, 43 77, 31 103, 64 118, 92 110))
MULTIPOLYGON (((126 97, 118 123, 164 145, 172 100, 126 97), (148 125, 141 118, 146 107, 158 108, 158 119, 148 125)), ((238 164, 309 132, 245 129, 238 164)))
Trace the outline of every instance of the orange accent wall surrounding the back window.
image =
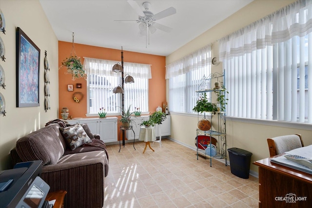
MULTIPOLYGON (((70 56, 72 46, 73 44, 71 42, 59 41, 59 66, 61 66, 63 59, 70 56)), ((80 57, 81 63, 83 63, 83 57, 117 60, 121 62, 121 48, 117 50, 75 43, 75 50, 77 56, 80 57)), ((152 65, 152 79, 149 79, 149 111, 156 111, 157 106, 161 106, 162 102, 166 101, 166 57, 123 50, 123 61, 152 65)), ((87 113, 87 82, 83 78, 73 81, 71 74, 65 74, 65 72, 65 67, 59 69, 59 118, 61 118, 60 110, 62 107, 67 107, 69 109, 69 115, 73 118, 84 118, 87 113), (76 83, 81 83, 82 88, 77 89, 76 83), (73 92, 67 91, 68 84, 73 85, 73 92), (76 92, 83 94, 83 98, 79 103, 76 103, 72 97, 76 92)))

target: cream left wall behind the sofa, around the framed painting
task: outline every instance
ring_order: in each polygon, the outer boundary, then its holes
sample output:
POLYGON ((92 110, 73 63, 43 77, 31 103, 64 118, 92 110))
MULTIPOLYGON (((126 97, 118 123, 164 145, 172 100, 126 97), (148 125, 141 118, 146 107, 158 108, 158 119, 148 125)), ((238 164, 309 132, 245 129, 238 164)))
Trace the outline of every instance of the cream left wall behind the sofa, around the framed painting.
POLYGON ((10 150, 21 136, 44 127, 44 124, 58 117, 59 76, 58 39, 47 20, 38 0, 0 0, 0 9, 5 17, 5 35, 0 34, 5 45, 5 62, 0 61, 5 73, 4 96, 6 116, 0 115, 0 170, 11 168, 10 150), (16 107, 16 28, 23 32, 40 49, 39 107, 16 107), (44 111, 44 51, 50 66, 50 105, 44 111))

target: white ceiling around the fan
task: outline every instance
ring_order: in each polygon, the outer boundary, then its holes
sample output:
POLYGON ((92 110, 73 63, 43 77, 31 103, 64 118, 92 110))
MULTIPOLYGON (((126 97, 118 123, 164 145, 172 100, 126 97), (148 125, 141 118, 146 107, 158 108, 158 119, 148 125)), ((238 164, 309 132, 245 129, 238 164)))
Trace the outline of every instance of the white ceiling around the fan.
POLYGON ((39 1, 61 41, 72 42, 74 32, 75 43, 167 56, 252 0, 136 0, 142 10, 150 2, 154 14, 176 8, 176 14, 156 20, 173 30, 157 30, 149 40, 139 35, 136 21, 114 21, 138 19, 127 0, 39 1))

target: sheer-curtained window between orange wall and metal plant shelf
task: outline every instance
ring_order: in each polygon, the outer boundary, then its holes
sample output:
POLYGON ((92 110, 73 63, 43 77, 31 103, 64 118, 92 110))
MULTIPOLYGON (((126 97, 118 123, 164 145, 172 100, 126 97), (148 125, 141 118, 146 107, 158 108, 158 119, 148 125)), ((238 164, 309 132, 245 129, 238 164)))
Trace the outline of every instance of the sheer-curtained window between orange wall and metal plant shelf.
POLYGON ((194 113, 198 99, 198 86, 203 76, 211 74, 211 46, 205 46, 193 54, 166 66, 169 79, 169 111, 194 113))

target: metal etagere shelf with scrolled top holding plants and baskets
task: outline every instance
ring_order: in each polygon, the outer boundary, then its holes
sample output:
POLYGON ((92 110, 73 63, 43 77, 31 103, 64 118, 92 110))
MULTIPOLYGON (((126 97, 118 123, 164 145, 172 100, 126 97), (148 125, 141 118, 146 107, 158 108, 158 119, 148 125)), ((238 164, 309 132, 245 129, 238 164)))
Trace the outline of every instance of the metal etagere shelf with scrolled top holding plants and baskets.
MULTIPOLYGON (((204 93, 209 94, 209 101, 214 103, 213 100, 215 100, 215 104, 217 103, 216 99, 214 99, 216 93, 225 93, 224 87, 224 74, 214 73, 209 75, 207 78, 204 76, 202 79, 201 84, 198 87, 198 91, 196 91, 198 97, 203 95, 204 93), (218 84, 216 84, 218 83, 218 84), (210 89, 211 86, 215 84, 215 87, 213 89, 210 89), (219 84, 221 86, 219 86, 219 84), (220 88, 221 87, 221 88, 220 88)), ((204 156, 206 158, 210 159, 210 166, 212 166, 212 158, 216 159, 225 159, 225 165, 227 166, 227 153, 226 153, 226 113, 225 109, 221 109, 223 111, 214 111, 214 112, 203 112, 198 113, 198 121, 205 118, 208 119, 211 123, 211 129, 208 131, 202 131, 200 129, 196 129, 197 138, 199 135, 205 135, 209 136, 209 147, 210 148, 210 155, 206 153, 206 149, 203 148, 203 146, 200 147, 200 144, 198 143, 199 139, 196 139, 196 149, 197 149, 197 160, 198 155, 204 156), (216 155, 212 156, 212 140, 215 139, 216 141, 216 155)))

